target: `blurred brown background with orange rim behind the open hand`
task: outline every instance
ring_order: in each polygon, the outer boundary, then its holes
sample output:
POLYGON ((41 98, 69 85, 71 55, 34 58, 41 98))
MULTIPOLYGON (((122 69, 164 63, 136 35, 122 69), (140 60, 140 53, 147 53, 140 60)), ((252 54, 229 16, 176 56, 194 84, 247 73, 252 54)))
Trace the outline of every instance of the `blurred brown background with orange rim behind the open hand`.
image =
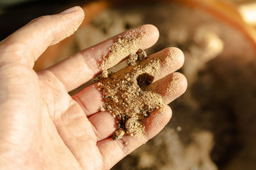
POLYGON ((86 17, 70 38, 36 61, 39 71, 141 24, 159 41, 147 53, 177 46, 188 90, 170 104, 172 120, 113 169, 256 169, 256 1, 0 0, 0 40, 41 15, 71 6, 86 17))

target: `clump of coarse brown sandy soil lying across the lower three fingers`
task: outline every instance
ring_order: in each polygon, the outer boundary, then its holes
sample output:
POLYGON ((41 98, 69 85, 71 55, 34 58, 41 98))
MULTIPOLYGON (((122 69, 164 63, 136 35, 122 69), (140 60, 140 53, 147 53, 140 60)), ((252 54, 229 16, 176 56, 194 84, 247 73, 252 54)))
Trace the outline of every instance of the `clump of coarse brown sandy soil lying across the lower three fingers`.
POLYGON ((129 55, 129 66, 109 74, 98 83, 104 98, 101 110, 109 111, 117 120, 114 140, 124 135, 144 134, 145 118, 152 111, 163 108, 162 97, 147 90, 154 80, 153 75, 160 70, 161 60, 157 57, 142 60, 145 57, 147 54, 138 50, 129 55))

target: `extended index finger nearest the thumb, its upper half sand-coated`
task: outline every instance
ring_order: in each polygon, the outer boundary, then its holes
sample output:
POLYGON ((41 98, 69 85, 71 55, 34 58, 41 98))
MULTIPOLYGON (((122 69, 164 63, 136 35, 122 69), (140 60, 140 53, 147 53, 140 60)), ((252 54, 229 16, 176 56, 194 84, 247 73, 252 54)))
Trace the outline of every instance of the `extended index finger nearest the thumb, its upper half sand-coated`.
POLYGON ((43 73, 51 72, 63 83, 67 91, 70 91, 92 79, 102 69, 115 66, 127 55, 135 53, 139 48, 146 49, 154 45, 158 38, 159 32, 154 25, 141 25, 78 52, 74 56, 43 71, 43 73), (118 43, 118 41, 122 42, 118 43), (115 43, 118 43, 119 46, 116 47, 115 43), (115 53, 111 55, 113 50, 115 50, 115 53), (102 61, 102 57, 107 54, 109 55, 108 59, 102 61), (101 64, 101 62, 103 63, 101 64))

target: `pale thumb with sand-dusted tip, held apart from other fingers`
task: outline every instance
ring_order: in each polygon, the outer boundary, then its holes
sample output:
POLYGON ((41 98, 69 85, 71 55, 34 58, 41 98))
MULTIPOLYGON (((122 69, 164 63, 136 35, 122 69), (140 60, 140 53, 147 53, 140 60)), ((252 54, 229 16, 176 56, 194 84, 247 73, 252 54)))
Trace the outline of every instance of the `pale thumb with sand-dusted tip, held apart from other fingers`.
POLYGON ((16 62, 33 67, 35 60, 48 46, 73 34, 83 19, 83 9, 74 6, 56 15, 32 20, 1 42, 0 63, 16 62))

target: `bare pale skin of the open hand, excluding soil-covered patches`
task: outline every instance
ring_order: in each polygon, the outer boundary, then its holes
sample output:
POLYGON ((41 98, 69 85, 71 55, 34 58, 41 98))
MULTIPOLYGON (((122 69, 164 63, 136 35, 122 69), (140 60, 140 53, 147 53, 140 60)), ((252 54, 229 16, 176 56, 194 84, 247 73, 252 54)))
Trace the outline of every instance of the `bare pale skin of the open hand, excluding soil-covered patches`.
MULTIPOLYGON (((103 101, 97 85, 68 94, 100 73, 102 55, 116 37, 44 71, 33 71, 47 47, 74 33, 83 17, 76 6, 36 18, 0 42, 0 169, 110 169, 169 122, 172 110, 165 105, 147 118, 145 138, 113 141, 115 118, 100 111, 103 101)), ((147 27, 147 43, 139 47, 146 49, 156 43, 159 32, 153 25, 141 27, 147 27)), ((173 73, 182 66, 184 55, 177 48, 165 48, 157 55, 174 56, 172 66, 163 66, 164 75, 155 75, 159 81, 151 87, 168 104, 187 87, 186 78, 173 73), (160 83, 172 83, 173 78, 178 81, 172 93, 159 89, 160 83)))

